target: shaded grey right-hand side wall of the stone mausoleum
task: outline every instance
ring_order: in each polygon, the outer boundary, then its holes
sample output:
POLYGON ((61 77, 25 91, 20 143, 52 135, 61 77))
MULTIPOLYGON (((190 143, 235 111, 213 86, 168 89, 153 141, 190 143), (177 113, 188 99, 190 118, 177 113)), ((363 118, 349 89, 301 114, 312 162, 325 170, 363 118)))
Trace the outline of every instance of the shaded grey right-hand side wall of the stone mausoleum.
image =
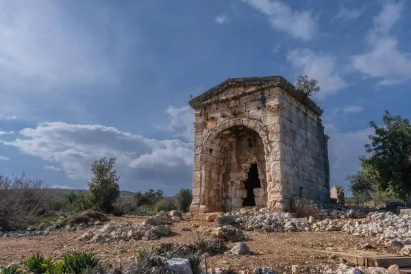
POLYGON ((283 92, 278 97, 279 147, 286 211, 296 199, 329 200, 328 158, 324 127, 319 116, 283 92))

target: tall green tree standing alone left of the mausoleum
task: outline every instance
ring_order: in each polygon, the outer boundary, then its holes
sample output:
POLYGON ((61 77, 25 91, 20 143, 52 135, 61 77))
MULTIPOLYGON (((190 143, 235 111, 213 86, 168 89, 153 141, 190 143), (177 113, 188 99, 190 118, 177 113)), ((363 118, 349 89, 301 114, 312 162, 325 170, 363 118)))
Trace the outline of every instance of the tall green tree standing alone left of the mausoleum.
POLYGON ((119 177, 114 170, 116 158, 101 158, 91 165, 93 173, 90 189, 90 200, 96 208, 106 213, 112 212, 113 203, 120 197, 119 177))

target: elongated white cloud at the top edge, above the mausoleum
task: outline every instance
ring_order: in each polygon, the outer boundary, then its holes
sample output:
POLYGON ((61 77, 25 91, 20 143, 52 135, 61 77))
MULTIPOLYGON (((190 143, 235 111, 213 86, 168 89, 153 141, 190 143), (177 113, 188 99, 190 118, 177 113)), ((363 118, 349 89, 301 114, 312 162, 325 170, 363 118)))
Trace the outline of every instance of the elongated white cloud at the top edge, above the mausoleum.
POLYGON ((243 0, 269 18, 273 29, 294 38, 311 40, 318 33, 318 22, 310 10, 293 11, 281 1, 243 0))

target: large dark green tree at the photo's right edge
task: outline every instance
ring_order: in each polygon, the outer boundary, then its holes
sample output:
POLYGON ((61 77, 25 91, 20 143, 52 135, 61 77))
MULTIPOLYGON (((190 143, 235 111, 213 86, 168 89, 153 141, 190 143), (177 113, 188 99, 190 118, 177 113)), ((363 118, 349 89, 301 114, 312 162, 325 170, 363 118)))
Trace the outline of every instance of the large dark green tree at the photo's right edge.
POLYGON ((366 144, 369 158, 360 158, 362 166, 373 171, 378 190, 392 192, 411 203, 411 125, 401 116, 390 116, 388 110, 382 118, 384 127, 371 121, 374 134, 366 144))

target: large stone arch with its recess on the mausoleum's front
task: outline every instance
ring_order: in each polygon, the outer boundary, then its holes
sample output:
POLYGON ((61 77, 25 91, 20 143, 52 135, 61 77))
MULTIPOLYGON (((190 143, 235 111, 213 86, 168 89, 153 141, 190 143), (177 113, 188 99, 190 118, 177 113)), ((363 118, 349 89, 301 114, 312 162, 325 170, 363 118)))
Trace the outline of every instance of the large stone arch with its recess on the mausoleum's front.
MULTIPOLYGON (((201 162, 206 165, 206 172, 201 179, 203 191, 200 194, 203 197, 203 210, 211 211, 229 211, 236 210, 238 205, 241 206, 241 199, 247 198, 245 186, 242 184, 248 179, 247 176, 252 164, 258 166, 258 179, 260 179, 260 189, 256 189, 256 205, 266 206, 268 200, 268 178, 266 170, 269 155, 269 132, 266 126, 261 121, 256 121, 249 118, 227 118, 222 122, 217 123, 216 127, 208 132, 205 140, 202 142, 201 162), (236 137, 235 142, 229 141, 229 137, 225 132, 236 130, 238 132, 247 133, 243 137, 236 137), (252 136, 252 137, 250 137, 252 136), (241 160, 234 160, 232 151, 236 151, 236 147, 244 146, 244 141, 241 138, 255 138, 258 146, 253 148, 252 153, 256 155, 242 155, 241 160), (240 140, 240 141, 239 141, 240 140), (231 149, 231 151, 230 151, 231 149), (244 197, 246 195, 246 197, 244 197)), ((252 147, 252 146, 251 146, 252 147)), ((240 149, 239 151, 245 151, 240 149)), ((234 156, 237 157, 237 156, 234 156)), ((239 158, 238 158, 239 159, 239 158)))

